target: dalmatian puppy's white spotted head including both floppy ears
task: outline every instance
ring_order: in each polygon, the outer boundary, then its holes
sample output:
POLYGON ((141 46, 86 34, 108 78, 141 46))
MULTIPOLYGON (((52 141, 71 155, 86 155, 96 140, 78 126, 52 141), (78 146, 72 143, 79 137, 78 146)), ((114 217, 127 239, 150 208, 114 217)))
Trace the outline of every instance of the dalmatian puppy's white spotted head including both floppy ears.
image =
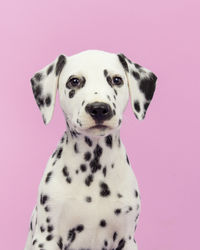
POLYGON ((31 78, 45 124, 52 118, 56 91, 67 124, 79 133, 106 136, 120 128, 129 95, 137 119, 145 117, 157 77, 123 54, 88 50, 60 55, 31 78))

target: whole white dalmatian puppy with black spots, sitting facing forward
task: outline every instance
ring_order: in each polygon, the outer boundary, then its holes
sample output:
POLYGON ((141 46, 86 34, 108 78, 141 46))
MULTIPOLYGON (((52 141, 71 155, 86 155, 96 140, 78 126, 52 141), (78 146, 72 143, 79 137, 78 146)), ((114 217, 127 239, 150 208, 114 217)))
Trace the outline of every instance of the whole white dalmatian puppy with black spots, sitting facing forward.
POLYGON ((25 250, 137 250, 140 194, 120 139, 129 96, 145 117, 157 77, 123 54, 60 55, 31 79, 48 124, 56 91, 67 130, 50 156, 25 250))

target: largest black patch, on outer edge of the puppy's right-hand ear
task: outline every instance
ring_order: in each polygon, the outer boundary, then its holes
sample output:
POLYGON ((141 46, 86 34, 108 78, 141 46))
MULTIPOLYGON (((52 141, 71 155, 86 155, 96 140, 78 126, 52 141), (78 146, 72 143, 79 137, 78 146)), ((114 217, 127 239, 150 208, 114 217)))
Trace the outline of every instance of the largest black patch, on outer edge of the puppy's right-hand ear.
POLYGON ((144 93, 145 98, 150 101, 156 88, 157 77, 151 73, 148 78, 143 78, 140 82, 140 90, 144 93))

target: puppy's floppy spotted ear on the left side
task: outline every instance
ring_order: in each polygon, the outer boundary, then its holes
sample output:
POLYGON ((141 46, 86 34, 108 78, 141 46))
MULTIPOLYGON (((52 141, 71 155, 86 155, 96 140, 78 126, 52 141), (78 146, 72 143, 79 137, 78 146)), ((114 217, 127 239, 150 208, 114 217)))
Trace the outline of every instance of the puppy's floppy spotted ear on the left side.
POLYGON ((60 55, 31 78, 33 94, 45 124, 52 118, 59 76, 66 61, 66 57, 60 55))

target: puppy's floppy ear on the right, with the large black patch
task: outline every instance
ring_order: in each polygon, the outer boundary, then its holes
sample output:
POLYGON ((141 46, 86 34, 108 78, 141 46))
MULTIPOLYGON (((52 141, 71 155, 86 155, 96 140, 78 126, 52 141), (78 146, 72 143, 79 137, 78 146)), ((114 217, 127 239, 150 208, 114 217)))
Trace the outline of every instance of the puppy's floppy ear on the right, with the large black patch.
POLYGON ((133 112, 138 120, 142 120, 153 98, 157 76, 139 64, 133 63, 125 55, 117 56, 127 75, 133 112))

